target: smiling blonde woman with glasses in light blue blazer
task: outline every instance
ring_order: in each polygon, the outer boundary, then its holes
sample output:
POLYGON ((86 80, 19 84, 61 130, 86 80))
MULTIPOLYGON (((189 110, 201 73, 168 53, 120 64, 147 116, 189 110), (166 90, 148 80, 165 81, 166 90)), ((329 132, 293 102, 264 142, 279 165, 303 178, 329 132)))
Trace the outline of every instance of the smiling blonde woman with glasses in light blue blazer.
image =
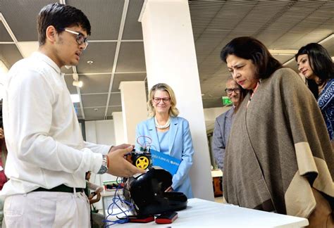
MULTIPOLYGON (((192 198, 189 170, 192 167, 192 137, 189 123, 178 117, 173 89, 168 84, 159 83, 149 91, 150 118, 137 125, 138 137, 149 137, 151 148, 181 160, 178 171, 173 175, 173 184, 166 191, 183 192, 192 198)), ((136 145, 137 149, 140 145, 136 145)))

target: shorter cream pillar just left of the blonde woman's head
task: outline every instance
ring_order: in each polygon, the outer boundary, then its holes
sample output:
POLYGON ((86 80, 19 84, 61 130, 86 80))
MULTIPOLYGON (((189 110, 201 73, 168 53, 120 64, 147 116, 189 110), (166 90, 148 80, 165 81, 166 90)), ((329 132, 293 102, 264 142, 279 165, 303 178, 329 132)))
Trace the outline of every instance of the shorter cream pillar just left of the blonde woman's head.
POLYGON ((147 101, 144 82, 120 82, 124 142, 135 144, 136 126, 147 119, 147 101))

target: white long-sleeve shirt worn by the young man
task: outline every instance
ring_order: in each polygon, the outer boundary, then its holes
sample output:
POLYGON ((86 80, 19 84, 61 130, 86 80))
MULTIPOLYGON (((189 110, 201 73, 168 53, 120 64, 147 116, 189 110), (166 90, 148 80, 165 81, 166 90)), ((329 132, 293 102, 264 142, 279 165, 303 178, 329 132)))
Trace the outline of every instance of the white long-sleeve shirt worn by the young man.
POLYGON ((8 72, 3 116, 10 180, 1 195, 60 184, 85 188, 85 172, 98 172, 110 148, 83 141, 64 75, 40 52, 8 72))

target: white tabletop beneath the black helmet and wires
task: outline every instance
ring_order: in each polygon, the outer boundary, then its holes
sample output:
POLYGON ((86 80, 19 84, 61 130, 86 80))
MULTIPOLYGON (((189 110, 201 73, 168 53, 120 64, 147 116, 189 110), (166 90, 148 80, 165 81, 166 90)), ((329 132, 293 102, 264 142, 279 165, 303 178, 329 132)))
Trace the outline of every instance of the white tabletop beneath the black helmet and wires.
POLYGON ((267 213, 199 198, 188 200, 187 205, 187 209, 178 211, 178 219, 172 224, 126 223, 113 227, 304 227, 309 224, 302 217, 267 213))

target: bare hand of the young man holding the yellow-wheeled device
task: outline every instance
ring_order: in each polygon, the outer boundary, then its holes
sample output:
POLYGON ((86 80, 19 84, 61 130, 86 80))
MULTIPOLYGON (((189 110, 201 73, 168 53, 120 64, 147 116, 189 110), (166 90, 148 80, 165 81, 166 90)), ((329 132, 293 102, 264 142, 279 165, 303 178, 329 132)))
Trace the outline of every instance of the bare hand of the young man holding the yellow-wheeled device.
POLYGON ((132 146, 128 146, 128 148, 119 148, 116 151, 113 151, 113 153, 108 154, 109 174, 116 177, 131 177, 137 173, 146 172, 145 170, 135 167, 134 165, 129 163, 128 160, 125 160, 125 154, 130 153, 132 151, 132 148, 132 146))

